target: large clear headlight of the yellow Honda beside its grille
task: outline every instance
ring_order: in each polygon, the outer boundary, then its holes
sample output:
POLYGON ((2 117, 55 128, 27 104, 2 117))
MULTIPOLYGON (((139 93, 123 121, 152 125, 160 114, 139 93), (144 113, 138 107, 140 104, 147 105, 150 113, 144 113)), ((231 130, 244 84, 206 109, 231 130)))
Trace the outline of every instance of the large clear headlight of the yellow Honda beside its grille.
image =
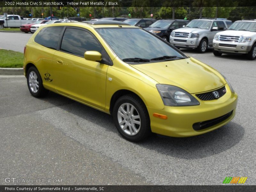
POLYGON ((185 90, 166 84, 156 84, 165 106, 193 106, 200 105, 198 100, 185 90))

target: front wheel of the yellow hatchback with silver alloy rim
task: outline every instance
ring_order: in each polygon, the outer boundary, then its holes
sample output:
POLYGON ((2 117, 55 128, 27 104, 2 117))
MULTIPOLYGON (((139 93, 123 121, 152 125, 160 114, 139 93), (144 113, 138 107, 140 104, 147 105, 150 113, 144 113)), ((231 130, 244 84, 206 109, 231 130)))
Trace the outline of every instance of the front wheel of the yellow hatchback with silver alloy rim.
POLYGON ((112 115, 117 131, 126 140, 137 142, 151 133, 148 110, 135 95, 120 97, 114 105, 112 115))

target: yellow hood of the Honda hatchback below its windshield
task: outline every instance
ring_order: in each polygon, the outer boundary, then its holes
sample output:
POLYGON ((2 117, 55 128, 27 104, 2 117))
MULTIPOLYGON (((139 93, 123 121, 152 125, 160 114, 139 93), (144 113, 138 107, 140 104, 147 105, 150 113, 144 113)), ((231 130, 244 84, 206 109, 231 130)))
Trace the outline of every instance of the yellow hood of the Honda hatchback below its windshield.
POLYGON ((210 91, 225 84, 220 73, 194 58, 131 66, 159 84, 174 85, 189 93, 210 91))

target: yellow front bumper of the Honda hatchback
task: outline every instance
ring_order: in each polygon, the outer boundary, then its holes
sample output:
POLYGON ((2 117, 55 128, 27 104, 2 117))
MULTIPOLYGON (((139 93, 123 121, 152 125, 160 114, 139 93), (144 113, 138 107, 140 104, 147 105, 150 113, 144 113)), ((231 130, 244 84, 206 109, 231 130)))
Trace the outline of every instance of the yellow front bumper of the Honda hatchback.
MULTIPOLYGON (((226 84, 227 92, 217 100, 202 101, 197 106, 169 107, 164 109, 148 108, 151 121, 151 131, 157 134, 172 137, 190 137, 213 131, 231 121, 236 113, 237 94, 232 93, 226 84), (158 113, 167 116, 167 119, 160 119, 153 116, 158 113), (227 116, 225 116, 227 115, 227 116), (225 118, 221 118, 225 116, 225 118), (213 121, 213 124, 209 123, 213 121), (217 121, 218 120, 218 121, 217 121), (207 124, 208 127, 195 130, 193 124, 207 124), (214 124, 215 123, 215 124, 214 124)), ((196 95, 192 94, 195 98, 196 95)))

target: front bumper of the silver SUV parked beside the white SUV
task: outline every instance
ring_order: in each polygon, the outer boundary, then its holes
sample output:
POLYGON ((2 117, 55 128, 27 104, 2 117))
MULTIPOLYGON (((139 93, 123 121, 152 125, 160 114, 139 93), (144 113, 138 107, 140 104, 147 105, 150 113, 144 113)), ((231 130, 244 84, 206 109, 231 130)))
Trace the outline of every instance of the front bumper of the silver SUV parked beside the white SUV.
POLYGON ((176 47, 197 48, 200 41, 200 38, 180 38, 170 36, 170 43, 176 47))

